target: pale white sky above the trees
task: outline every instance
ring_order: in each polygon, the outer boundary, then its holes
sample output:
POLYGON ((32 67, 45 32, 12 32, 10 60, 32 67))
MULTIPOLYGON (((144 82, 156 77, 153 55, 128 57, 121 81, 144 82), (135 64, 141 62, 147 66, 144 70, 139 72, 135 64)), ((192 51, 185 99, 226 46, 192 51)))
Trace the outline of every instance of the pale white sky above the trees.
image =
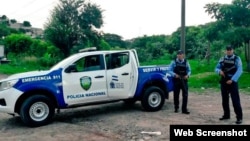
MULTIPOLYGON (((104 33, 124 39, 143 35, 170 35, 181 26, 182 0, 89 0, 103 10, 104 33)), ((186 0, 186 26, 205 24, 212 19, 205 13, 205 4, 230 4, 232 0, 186 0)), ((0 0, 0 16, 18 22, 29 21, 43 28, 58 0, 0 0)))

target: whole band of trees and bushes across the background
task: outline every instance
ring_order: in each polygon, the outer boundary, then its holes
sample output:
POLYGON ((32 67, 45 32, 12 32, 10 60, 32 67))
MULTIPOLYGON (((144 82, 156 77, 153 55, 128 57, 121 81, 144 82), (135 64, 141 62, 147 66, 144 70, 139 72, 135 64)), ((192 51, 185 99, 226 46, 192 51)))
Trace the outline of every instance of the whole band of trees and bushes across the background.
MULTIPOLYGON (((207 4, 205 12, 216 21, 185 28, 185 55, 193 63, 193 74, 213 71, 214 60, 224 55, 224 48, 228 44, 235 47, 235 52, 241 58, 246 58, 244 49, 250 46, 249 5, 250 0, 207 4)), ((6 16, 1 18, 7 19, 6 16)), ((46 23, 44 41, 24 34, 13 34, 20 32, 12 31, 4 23, 0 24, 0 37, 4 36, 5 39, 0 38, 0 44, 5 45, 8 56, 13 56, 12 63, 15 65, 21 64, 22 60, 31 64, 38 62, 45 67, 91 46, 99 50, 135 48, 143 65, 168 64, 180 49, 181 28, 171 35, 145 35, 124 41, 120 35, 101 34, 98 31, 103 25, 102 18, 98 5, 85 3, 84 0, 60 0, 46 23)), ((250 66, 250 63, 245 65, 250 66)), ((211 79, 215 79, 214 76, 211 79)), ((204 83, 207 81, 210 80, 204 80, 204 83)))

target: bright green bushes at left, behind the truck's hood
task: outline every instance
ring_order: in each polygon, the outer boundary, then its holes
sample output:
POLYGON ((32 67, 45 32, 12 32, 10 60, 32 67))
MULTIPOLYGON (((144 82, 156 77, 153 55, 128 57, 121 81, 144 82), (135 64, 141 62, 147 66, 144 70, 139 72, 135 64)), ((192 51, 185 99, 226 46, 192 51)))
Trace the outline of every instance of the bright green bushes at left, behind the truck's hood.
POLYGON ((13 65, 22 61, 35 62, 42 67, 49 67, 61 60, 59 49, 48 42, 32 39, 24 34, 11 34, 4 40, 5 54, 13 65), (33 59, 31 59, 33 58, 33 59), (37 63, 38 62, 38 63, 37 63))

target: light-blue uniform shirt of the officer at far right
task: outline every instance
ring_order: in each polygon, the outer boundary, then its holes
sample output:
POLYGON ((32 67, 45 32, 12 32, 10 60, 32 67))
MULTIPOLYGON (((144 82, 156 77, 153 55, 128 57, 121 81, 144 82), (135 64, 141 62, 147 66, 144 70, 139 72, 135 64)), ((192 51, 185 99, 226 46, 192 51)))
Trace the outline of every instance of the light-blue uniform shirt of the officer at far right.
MULTIPOLYGON (((229 58, 233 58, 233 57, 236 57, 236 56, 235 56, 235 55, 232 55, 232 56, 228 57, 228 56, 226 55, 226 56, 224 56, 224 57, 229 59, 229 58)), ((221 69, 222 69, 221 62, 224 61, 224 57, 222 57, 222 58, 219 60, 218 64, 217 64, 216 67, 215 67, 215 72, 216 72, 217 74, 220 74, 220 71, 221 71, 221 69)), ((237 59, 235 60, 235 65, 236 65, 237 70, 236 70, 236 72, 234 73, 234 75, 232 76, 231 80, 234 81, 234 82, 237 82, 238 79, 240 78, 241 74, 243 73, 243 71, 242 71, 242 62, 241 62, 240 57, 237 57, 237 59)))

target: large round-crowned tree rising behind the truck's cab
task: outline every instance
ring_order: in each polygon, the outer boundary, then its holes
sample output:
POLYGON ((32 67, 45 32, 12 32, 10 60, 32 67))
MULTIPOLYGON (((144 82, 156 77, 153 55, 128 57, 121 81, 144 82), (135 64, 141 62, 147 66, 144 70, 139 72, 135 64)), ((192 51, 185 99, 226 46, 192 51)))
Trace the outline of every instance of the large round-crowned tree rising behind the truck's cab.
POLYGON ((96 29, 102 24, 99 6, 84 0, 59 0, 45 24, 44 36, 67 57, 74 46, 98 46, 101 36, 96 29))

